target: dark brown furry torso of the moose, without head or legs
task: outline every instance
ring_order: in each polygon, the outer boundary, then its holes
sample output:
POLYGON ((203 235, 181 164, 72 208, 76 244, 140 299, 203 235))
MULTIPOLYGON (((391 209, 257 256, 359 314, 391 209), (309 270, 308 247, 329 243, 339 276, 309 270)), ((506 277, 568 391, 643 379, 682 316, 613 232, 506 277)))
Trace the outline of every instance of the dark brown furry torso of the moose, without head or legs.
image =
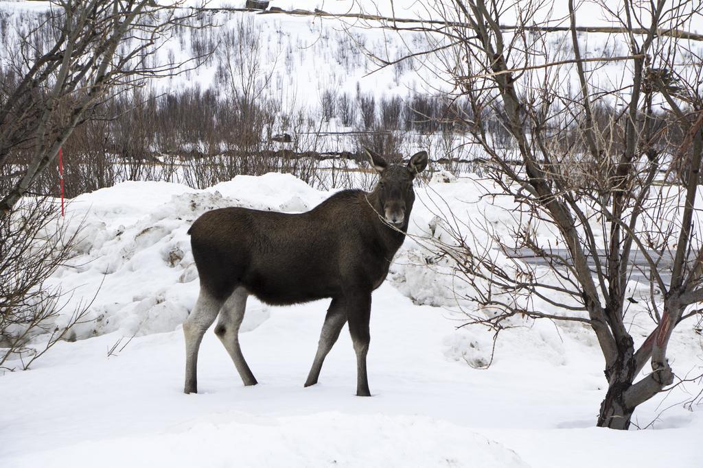
POLYGON ((247 208, 205 213, 190 231, 200 283, 221 299, 244 286, 271 305, 378 287, 404 234, 375 213, 377 198, 345 190, 296 215, 247 208))

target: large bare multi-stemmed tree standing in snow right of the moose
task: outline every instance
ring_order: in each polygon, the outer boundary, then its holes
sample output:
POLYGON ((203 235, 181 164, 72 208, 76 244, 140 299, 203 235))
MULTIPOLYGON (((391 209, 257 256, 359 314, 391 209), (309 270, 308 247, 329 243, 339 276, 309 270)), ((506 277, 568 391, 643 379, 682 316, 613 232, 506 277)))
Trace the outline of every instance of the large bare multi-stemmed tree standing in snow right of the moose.
POLYGON ((585 58, 581 32, 590 28, 578 25, 573 0, 566 25, 552 27, 557 3, 443 1, 434 11, 441 25, 375 20, 427 33, 430 67, 443 69, 430 73, 444 79, 427 86, 467 109, 456 124, 486 155, 486 194, 513 203, 507 236, 487 220, 445 213, 452 239, 435 248, 467 283, 470 323, 496 333, 526 317, 589 326, 608 382, 598 425, 627 429, 635 408, 675 380, 673 329, 701 314, 703 51, 678 34, 701 6, 594 1, 618 25, 602 40, 626 41, 629 51, 585 58), (487 131, 491 121, 507 140, 487 131), (471 240, 476 229, 488 245, 471 240), (636 280, 647 284, 645 300, 633 295, 636 280), (637 310, 652 320, 644 340, 631 331, 637 310))

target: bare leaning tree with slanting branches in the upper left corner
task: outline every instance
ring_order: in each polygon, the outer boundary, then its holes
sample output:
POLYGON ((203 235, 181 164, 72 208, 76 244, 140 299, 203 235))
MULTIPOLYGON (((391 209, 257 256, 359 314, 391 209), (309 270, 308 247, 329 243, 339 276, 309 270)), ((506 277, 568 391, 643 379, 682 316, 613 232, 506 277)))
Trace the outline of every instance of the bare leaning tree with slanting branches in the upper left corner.
MULTIPOLYGON (((198 11, 183 1, 55 0, 39 24, 18 31, 4 51, 13 80, 0 88, 0 216, 51 166, 68 136, 91 110, 150 76, 183 71, 186 63, 148 60, 198 11)), ((198 62, 198 58, 186 62, 198 62)))

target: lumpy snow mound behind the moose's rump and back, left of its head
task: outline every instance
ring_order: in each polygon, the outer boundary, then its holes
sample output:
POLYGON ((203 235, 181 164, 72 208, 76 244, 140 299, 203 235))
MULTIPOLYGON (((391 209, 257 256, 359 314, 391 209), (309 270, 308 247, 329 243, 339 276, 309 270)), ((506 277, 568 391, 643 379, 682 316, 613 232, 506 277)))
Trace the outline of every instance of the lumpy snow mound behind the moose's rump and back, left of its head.
MULTIPOLYGON (((172 331, 198 295, 188 236, 195 219, 228 206, 299 212, 325 196, 285 174, 238 176, 205 190, 124 182, 78 196, 69 206, 70 226, 80 229, 77 258, 51 279, 75 297, 58 325, 69 319, 79 297, 95 295, 86 323, 73 330, 76 339, 172 331)), ((268 307, 251 300, 241 330, 253 330, 268 317, 268 307)))

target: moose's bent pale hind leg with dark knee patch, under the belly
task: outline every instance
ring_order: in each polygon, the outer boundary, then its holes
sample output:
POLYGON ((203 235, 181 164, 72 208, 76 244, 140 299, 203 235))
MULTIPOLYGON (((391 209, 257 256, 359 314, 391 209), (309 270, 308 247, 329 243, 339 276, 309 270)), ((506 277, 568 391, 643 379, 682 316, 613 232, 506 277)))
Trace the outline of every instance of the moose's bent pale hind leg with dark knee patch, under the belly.
POLYGON ((234 361, 234 366, 237 368, 239 376, 242 377, 244 385, 257 385, 257 380, 247 365, 239 346, 239 327, 244 319, 248 295, 245 288, 234 290, 222 307, 217 326, 215 326, 215 335, 234 361))

